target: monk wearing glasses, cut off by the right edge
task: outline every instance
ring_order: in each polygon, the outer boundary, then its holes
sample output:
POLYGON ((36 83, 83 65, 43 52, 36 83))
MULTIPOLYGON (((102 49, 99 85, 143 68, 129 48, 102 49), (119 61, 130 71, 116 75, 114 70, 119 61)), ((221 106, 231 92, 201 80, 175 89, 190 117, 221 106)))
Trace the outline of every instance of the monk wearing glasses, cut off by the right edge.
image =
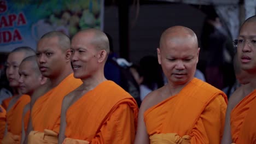
POLYGON ((243 71, 242 85, 230 97, 222 143, 256 143, 256 16, 241 26, 237 46, 238 64, 243 71), (228 121, 230 117, 230 121, 228 121))

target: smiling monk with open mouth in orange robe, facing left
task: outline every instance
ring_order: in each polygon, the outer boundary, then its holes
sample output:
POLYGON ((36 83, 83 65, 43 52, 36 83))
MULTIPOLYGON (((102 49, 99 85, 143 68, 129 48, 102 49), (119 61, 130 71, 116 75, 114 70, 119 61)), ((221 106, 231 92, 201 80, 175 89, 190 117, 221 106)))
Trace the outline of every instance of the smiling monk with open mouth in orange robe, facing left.
POLYGON ((138 107, 135 99, 104 77, 109 41, 103 32, 86 29, 71 42, 74 76, 83 85, 62 104, 59 143, 133 143, 138 107))

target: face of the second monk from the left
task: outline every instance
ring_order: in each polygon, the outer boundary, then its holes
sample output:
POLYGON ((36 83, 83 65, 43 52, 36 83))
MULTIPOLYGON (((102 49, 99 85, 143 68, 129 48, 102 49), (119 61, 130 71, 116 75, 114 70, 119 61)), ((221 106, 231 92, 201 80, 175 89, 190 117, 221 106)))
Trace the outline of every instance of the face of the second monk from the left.
POLYGON ((25 61, 20 64, 20 91, 22 94, 32 95, 33 92, 40 86, 42 75, 40 71, 33 69, 32 62, 25 61))

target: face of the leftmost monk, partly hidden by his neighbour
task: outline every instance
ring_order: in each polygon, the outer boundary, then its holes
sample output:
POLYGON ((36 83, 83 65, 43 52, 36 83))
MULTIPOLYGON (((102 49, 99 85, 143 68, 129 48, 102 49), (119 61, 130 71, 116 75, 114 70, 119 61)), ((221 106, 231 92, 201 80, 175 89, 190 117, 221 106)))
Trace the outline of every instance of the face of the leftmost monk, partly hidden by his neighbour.
POLYGON ((10 87, 19 87, 19 66, 24 57, 24 52, 13 52, 7 58, 6 75, 10 87))

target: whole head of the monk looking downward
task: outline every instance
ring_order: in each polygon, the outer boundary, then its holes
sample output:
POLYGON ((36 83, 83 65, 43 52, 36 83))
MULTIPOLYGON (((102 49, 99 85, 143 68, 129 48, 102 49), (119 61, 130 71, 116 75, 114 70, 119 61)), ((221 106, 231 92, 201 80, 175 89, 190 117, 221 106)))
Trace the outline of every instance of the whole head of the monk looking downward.
POLYGON ((169 83, 183 85, 193 79, 200 48, 191 29, 183 26, 166 29, 157 51, 158 62, 169 83))

